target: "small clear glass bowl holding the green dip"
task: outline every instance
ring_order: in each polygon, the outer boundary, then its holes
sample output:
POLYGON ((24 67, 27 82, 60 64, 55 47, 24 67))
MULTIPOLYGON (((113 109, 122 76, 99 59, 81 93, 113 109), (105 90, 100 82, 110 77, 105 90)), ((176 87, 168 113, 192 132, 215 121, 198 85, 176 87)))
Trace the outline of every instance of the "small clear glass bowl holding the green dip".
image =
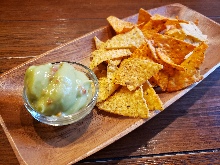
MULTIPOLYGON (((30 112, 30 114, 36 120, 38 120, 42 123, 48 124, 48 125, 52 125, 52 126, 68 125, 68 124, 72 124, 74 122, 77 122, 77 121, 83 119, 94 108, 96 101, 97 101, 97 97, 98 97, 98 91, 99 91, 98 79, 91 69, 89 69, 88 67, 86 67, 80 63, 77 63, 77 62, 69 62, 69 61, 62 61, 62 62, 67 62, 67 63, 73 65, 73 67, 76 70, 85 73, 85 75, 90 80, 92 80, 92 85, 91 85, 92 86, 92 97, 91 97, 91 100, 88 101, 87 105, 85 105, 80 110, 74 112, 73 114, 60 115, 60 116, 46 116, 44 114, 39 113, 31 106, 31 104, 28 101, 28 97, 26 95, 26 88, 24 87, 23 88, 23 100, 24 100, 24 106, 26 107, 26 109, 30 112)), ((59 64, 59 63, 60 62, 55 62, 52 64, 59 64)))

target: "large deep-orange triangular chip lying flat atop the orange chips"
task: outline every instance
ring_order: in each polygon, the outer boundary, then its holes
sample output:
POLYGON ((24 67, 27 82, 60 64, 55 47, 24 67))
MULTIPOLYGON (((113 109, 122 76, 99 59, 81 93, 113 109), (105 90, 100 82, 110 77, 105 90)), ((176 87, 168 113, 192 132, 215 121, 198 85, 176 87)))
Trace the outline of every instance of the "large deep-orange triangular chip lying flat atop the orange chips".
POLYGON ((153 46, 166 51, 167 56, 175 64, 181 64, 185 56, 195 48, 192 44, 159 33, 155 33, 152 40, 154 41, 153 46))

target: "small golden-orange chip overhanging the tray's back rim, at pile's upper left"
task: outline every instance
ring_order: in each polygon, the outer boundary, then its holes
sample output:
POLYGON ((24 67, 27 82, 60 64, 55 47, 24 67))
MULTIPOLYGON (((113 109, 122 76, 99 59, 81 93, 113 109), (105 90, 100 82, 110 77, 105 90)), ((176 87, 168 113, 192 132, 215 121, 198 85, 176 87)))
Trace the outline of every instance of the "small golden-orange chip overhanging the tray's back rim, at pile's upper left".
POLYGON ((115 16, 109 16, 107 21, 117 34, 128 32, 135 26, 134 23, 121 20, 115 16))

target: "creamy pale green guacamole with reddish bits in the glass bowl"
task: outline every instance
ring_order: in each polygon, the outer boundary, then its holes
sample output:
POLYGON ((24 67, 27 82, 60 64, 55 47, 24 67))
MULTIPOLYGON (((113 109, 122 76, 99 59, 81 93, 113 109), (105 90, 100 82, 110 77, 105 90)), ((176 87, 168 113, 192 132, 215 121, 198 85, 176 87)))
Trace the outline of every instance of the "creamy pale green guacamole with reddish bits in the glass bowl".
POLYGON ((91 82, 83 72, 61 62, 29 67, 24 85, 33 109, 59 116, 72 114, 90 101, 91 82))

